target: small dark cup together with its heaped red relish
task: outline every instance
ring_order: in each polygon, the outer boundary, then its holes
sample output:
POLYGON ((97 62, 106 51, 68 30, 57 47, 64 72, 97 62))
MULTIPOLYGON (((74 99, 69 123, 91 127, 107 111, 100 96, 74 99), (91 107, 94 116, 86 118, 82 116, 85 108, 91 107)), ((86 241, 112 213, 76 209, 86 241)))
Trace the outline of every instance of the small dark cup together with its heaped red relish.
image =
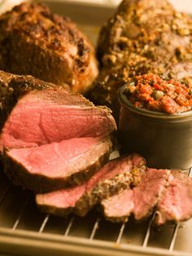
POLYGON ((151 168, 192 166, 192 95, 190 85, 137 76, 119 90, 120 153, 137 152, 151 168))

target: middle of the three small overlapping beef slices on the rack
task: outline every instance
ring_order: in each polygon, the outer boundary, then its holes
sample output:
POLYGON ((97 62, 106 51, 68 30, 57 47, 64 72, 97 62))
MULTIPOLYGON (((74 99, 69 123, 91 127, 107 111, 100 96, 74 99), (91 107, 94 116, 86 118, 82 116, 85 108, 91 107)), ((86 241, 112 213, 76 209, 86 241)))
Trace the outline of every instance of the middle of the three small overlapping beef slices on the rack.
POLYGON ((132 213, 137 220, 146 218, 164 193, 169 174, 170 170, 146 170, 141 183, 133 190, 128 188, 119 195, 102 201, 105 217, 114 222, 127 221, 132 213))

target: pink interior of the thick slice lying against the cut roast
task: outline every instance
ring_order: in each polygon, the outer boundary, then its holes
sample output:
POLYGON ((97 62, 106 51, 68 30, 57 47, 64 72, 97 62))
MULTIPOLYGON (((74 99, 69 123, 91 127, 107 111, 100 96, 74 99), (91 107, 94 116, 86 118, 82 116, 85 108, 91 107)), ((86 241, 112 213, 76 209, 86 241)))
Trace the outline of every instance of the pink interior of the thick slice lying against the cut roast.
POLYGON ((91 165, 104 143, 100 138, 73 138, 40 147, 14 148, 7 155, 31 174, 57 178, 91 165))

